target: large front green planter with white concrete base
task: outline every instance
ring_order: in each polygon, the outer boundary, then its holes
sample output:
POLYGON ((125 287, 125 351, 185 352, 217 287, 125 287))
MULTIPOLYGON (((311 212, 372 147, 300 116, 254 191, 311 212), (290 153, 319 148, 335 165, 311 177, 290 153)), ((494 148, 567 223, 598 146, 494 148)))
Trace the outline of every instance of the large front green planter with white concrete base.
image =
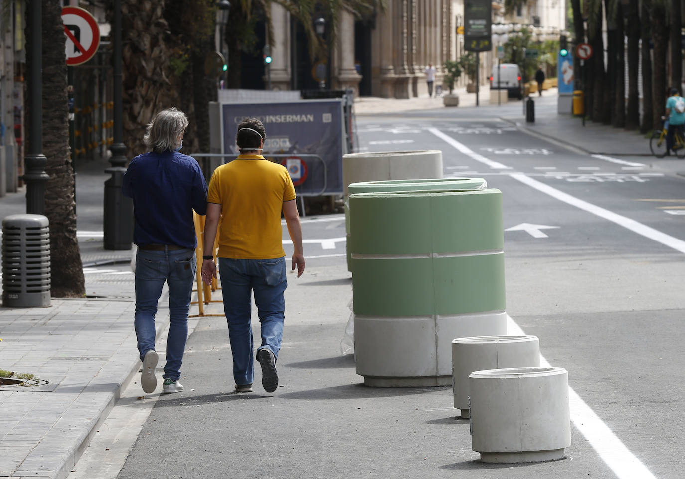
POLYGON ((451 341, 506 334, 501 192, 349 197, 357 373, 451 384, 451 341))

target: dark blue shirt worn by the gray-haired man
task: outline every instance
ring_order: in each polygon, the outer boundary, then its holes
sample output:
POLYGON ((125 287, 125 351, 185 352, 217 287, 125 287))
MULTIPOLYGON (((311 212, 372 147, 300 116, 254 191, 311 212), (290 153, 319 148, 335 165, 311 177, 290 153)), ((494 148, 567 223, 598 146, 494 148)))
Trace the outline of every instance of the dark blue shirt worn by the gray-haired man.
POLYGON ((195 158, 178 151, 138 155, 121 191, 133 198, 136 245, 197 246, 192 210, 207 213, 207 182, 195 158))

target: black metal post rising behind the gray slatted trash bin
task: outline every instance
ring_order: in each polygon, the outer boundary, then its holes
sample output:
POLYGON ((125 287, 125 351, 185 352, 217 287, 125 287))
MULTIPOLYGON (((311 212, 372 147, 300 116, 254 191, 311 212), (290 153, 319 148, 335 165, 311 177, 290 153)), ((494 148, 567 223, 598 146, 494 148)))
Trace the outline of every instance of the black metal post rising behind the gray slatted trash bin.
POLYGON ((45 173, 47 158, 42 153, 42 1, 31 2, 31 63, 29 98, 31 99, 31 143, 25 158, 26 212, 45 213, 45 173))

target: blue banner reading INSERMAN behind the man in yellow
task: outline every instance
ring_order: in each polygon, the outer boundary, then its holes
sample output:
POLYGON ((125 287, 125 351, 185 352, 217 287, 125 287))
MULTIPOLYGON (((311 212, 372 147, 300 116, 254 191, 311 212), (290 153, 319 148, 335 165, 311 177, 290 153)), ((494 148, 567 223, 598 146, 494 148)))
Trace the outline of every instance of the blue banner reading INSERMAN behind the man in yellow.
POLYGON ((237 156, 238 124, 245 118, 258 118, 266 129, 263 151, 266 158, 269 158, 269 153, 292 156, 313 154, 321 157, 321 160, 302 158, 308 173, 303 184, 296 187, 298 194, 343 193, 343 154, 346 153, 344 149, 347 143, 342 100, 223 103, 221 114, 223 153, 237 156))

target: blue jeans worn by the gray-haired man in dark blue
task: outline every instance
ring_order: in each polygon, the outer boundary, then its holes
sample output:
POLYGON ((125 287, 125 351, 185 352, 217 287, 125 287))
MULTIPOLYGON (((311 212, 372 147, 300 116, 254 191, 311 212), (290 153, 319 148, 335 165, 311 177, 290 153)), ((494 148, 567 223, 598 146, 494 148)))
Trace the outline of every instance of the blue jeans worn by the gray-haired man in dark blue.
POLYGON ((162 286, 169 286, 169 335, 162 378, 177 381, 188 339, 188 308, 195 280, 195 249, 143 251, 136 254, 136 315, 138 352, 155 349, 155 314, 162 286))

